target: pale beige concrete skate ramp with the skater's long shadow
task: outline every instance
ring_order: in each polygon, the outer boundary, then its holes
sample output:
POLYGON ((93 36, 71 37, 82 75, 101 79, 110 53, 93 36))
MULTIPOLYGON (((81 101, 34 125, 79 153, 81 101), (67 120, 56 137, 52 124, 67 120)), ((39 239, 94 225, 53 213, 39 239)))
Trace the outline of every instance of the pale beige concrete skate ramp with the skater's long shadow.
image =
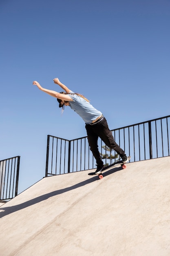
POLYGON ((170 157, 46 177, 0 207, 1 256, 170 256, 170 157))

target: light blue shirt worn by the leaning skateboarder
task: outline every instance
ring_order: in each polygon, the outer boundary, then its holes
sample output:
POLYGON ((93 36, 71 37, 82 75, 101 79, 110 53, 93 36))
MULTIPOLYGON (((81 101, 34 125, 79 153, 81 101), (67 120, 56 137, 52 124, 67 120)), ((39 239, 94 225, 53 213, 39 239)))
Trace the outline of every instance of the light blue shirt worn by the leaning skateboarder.
POLYGON ((73 109, 86 124, 91 124, 92 121, 102 115, 102 112, 95 109, 88 101, 70 91, 69 96, 73 101, 69 101, 71 109, 73 109))

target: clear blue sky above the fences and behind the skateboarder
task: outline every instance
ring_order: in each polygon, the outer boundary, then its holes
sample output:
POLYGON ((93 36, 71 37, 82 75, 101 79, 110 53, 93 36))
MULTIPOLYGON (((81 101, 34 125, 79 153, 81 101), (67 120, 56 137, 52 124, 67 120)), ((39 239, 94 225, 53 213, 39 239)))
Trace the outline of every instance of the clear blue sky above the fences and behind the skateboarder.
POLYGON ((58 77, 110 129, 170 115, 170 0, 0 0, 0 160, 21 156, 19 192, 45 174, 46 139, 84 121, 32 85, 58 77))

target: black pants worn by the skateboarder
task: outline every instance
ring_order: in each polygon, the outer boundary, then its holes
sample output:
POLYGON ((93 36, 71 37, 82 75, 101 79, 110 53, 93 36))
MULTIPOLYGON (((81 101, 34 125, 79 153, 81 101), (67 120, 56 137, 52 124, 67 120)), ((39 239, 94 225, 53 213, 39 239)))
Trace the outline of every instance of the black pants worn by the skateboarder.
POLYGON ((98 150, 98 137, 102 139, 102 141, 111 149, 114 149, 117 154, 124 155, 125 152, 123 149, 117 145, 117 143, 114 141, 113 134, 108 128, 107 121, 105 117, 99 121, 97 124, 86 124, 86 131, 87 131, 87 137, 88 137, 88 144, 90 146, 90 150, 93 153, 93 156, 96 159, 97 164, 103 164, 102 157, 98 150))

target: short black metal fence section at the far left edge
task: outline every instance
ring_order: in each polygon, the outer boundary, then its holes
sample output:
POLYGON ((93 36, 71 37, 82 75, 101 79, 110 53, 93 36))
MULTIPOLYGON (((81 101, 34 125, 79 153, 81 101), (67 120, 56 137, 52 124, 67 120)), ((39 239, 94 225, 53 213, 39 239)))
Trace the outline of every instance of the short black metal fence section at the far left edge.
POLYGON ((0 161, 0 201, 17 195, 19 168, 20 156, 0 161))

